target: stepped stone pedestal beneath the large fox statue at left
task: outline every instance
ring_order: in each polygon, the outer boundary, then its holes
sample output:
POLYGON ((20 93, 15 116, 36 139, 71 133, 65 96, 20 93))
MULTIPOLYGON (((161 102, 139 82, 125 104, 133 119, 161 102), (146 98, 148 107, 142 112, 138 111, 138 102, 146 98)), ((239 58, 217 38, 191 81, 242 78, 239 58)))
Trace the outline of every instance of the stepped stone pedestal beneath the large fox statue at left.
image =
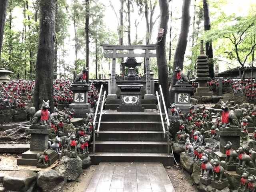
MULTIPOLYGON (((48 149, 48 134, 54 131, 50 126, 30 126, 25 132, 30 134, 30 150, 22 153, 21 158, 17 159, 17 165, 36 166, 36 155, 44 154, 44 150, 48 149)), ((48 149, 48 164, 51 166, 57 159, 58 154, 54 150, 48 149)))

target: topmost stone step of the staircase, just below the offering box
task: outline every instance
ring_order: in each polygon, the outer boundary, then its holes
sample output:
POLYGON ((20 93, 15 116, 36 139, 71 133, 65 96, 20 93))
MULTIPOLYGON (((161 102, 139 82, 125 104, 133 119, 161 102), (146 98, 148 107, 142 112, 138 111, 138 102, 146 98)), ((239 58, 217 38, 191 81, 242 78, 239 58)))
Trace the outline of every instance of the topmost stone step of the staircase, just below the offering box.
MULTIPOLYGON (((164 119, 164 114, 162 115, 164 119)), ((100 119, 100 114, 97 114, 97 120, 100 119)), ((157 111, 145 112, 116 112, 112 110, 104 110, 102 112, 101 121, 125 121, 125 122, 161 122, 160 114, 157 111)))

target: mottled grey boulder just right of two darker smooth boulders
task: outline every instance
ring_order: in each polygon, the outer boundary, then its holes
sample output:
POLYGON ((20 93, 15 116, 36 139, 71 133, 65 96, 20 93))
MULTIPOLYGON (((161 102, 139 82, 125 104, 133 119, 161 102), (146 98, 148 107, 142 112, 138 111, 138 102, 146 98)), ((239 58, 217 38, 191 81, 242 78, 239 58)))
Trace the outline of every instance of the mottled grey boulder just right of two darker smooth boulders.
POLYGON ((77 156, 76 158, 69 158, 64 156, 60 163, 56 166, 57 172, 63 173, 67 180, 75 181, 82 173, 82 160, 77 156))

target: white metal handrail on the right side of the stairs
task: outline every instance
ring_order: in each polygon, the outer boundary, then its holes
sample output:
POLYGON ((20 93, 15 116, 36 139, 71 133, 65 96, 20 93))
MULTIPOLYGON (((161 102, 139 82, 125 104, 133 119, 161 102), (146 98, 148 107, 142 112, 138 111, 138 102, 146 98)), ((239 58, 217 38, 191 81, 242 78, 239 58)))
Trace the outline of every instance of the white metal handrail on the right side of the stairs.
POLYGON ((157 97, 157 101, 158 101, 158 111, 160 112, 160 116, 161 116, 161 121, 162 121, 162 126, 163 126, 163 131, 164 131, 164 138, 165 138, 165 134, 167 133, 167 153, 169 155, 170 154, 170 141, 169 141, 170 122, 169 122, 168 113, 167 113, 165 102, 164 102, 164 96, 163 96, 163 91, 162 91, 161 85, 159 85, 159 95, 158 95, 158 92, 156 91, 156 97, 157 97), (159 95, 160 95, 160 98, 159 98, 159 95), (165 130, 165 128, 164 128, 164 120, 163 120, 162 110, 161 110, 162 102, 163 102, 163 106, 164 106, 165 122, 167 124, 167 130, 165 130))

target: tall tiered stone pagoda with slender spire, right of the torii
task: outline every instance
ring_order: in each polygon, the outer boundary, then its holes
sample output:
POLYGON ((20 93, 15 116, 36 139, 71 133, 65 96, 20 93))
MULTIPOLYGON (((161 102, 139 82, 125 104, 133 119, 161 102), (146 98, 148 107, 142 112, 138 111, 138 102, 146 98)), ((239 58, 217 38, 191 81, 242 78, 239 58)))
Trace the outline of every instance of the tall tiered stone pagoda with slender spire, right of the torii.
POLYGON ((200 55, 197 58, 196 81, 198 81, 198 88, 194 93, 195 97, 212 96, 212 91, 207 87, 208 80, 210 80, 208 58, 204 53, 204 40, 201 40, 200 55))

